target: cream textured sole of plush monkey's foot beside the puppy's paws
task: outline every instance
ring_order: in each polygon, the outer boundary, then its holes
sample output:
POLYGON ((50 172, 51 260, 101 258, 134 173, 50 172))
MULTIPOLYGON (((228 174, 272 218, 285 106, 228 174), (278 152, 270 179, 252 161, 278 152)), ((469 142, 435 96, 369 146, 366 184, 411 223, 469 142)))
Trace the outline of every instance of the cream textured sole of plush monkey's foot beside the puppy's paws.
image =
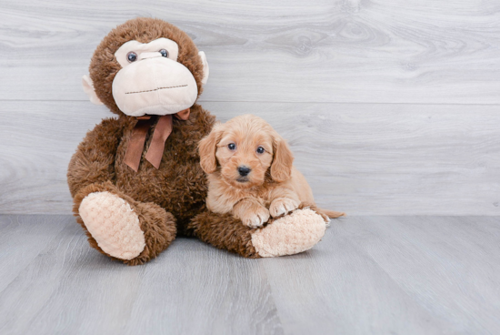
POLYGON ((311 249, 325 235, 325 220, 314 210, 298 209, 252 233, 252 245, 261 257, 294 255, 311 249))

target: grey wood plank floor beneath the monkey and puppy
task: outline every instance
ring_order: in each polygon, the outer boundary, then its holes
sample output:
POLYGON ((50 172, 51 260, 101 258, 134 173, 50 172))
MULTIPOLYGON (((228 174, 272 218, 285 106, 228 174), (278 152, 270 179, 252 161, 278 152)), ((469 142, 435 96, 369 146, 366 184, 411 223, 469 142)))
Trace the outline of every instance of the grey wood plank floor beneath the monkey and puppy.
POLYGON ((349 217, 241 259, 177 239, 145 266, 70 216, 0 216, 1 334, 498 334, 500 218, 349 217))

